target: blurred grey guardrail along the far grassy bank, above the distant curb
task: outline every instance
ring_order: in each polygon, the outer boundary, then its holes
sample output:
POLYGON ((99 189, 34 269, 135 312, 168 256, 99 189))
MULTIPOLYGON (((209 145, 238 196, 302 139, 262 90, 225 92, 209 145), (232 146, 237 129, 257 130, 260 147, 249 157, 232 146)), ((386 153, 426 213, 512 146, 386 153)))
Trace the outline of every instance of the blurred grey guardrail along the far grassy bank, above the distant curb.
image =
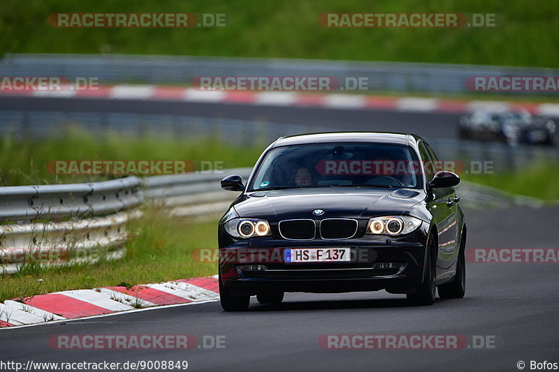
MULTIPOLYGON (((122 54, 6 54, 4 76, 97 77, 111 82, 187 84, 198 76, 367 77, 372 91, 465 93, 472 76, 559 75, 558 69, 404 62, 248 59, 122 54)), ((515 94, 510 92, 509 94, 515 94)), ((516 92, 518 94, 518 92, 516 92)), ((523 92, 522 94, 527 94, 523 92)), ((542 94, 535 92, 534 94, 542 94)), ((543 93, 545 94, 545 93, 543 93)))

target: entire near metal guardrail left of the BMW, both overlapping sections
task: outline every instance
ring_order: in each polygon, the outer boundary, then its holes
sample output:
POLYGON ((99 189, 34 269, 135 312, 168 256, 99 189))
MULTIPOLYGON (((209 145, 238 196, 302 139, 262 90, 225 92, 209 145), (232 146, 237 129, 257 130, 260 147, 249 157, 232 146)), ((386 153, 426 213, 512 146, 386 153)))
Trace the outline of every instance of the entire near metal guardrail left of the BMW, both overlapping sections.
POLYGON ((0 274, 22 265, 45 266, 122 258, 126 223, 141 216, 143 202, 162 204, 173 216, 222 213, 233 194, 219 187, 224 174, 126 177, 89 184, 0 188, 0 274))

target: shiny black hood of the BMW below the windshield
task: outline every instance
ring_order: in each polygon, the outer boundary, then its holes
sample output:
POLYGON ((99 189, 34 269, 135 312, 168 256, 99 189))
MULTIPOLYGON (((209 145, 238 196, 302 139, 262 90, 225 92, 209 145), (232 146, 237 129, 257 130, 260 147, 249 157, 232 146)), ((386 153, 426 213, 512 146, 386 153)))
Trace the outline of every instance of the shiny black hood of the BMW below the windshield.
POLYGON ((289 218, 370 218, 402 214, 425 199, 416 189, 290 188, 247 193, 235 201, 243 218, 280 221, 289 218), (315 216, 315 209, 324 214, 315 216))

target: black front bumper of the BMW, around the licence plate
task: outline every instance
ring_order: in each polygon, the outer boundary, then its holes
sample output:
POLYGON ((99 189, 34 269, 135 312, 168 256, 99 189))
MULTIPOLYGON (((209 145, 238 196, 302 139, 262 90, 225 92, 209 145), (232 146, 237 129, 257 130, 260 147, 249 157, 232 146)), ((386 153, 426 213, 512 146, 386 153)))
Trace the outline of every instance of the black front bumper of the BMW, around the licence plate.
MULTIPOLYGON (((282 260, 266 262, 259 259, 254 260, 250 258, 251 255, 245 255, 243 262, 220 262, 219 270, 224 289, 233 296, 256 295, 269 290, 315 293, 387 290, 391 293, 411 293, 423 280, 425 258, 423 244, 365 246, 333 245, 332 242, 324 244, 323 241, 317 246, 349 247, 351 248, 351 262, 285 263, 281 262, 282 260), (378 262, 394 262, 399 265, 392 269, 379 269, 375 268, 375 263, 378 262), (254 269, 255 266, 256 269, 254 269)), ((304 247, 292 246, 289 248, 304 247)), ((250 249, 261 251, 263 248, 242 249, 246 252, 250 249)), ((283 257, 284 248, 268 249, 271 250, 268 258, 283 257)), ((230 252, 230 250, 231 248, 221 248, 222 253, 230 252)), ((263 256, 256 255, 255 257, 262 258, 263 256)))

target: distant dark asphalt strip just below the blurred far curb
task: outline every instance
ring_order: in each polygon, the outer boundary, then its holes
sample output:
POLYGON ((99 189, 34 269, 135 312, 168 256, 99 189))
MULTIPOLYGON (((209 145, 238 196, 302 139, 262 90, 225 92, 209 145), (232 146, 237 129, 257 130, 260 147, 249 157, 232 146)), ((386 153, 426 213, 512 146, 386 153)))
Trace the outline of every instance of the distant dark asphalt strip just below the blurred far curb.
MULTIPOLYGON (((36 98, 0 96, 1 110, 115 112, 189 115, 331 127, 333 131, 393 131, 423 137, 456 137, 458 114, 394 110, 342 110, 328 107, 277 107, 233 103, 138 101, 131 99, 36 98)), ((1 112, 0 112, 1 114, 1 112)))

